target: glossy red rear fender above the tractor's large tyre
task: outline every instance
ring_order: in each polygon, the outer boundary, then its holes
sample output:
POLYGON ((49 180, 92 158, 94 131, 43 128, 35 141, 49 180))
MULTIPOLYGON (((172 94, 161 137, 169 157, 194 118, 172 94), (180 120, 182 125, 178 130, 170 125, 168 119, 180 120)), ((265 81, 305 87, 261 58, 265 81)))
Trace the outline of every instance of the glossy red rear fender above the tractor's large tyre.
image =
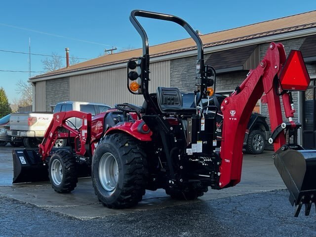
POLYGON ((108 129, 105 132, 105 135, 124 132, 135 137, 137 140, 150 142, 152 141, 151 136, 153 132, 151 130, 144 131, 142 129, 144 124, 146 123, 143 120, 136 120, 135 122, 122 122, 108 129))

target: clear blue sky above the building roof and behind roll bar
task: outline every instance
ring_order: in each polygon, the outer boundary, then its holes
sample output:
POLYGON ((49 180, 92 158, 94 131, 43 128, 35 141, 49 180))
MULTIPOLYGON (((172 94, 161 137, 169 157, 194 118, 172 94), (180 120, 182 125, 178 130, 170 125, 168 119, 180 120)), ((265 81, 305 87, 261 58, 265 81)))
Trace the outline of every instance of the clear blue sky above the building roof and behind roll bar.
MULTIPOLYGON (((133 9, 177 15, 202 34, 227 30, 316 9, 315 0, 10 0, 1 1, 0 50, 51 55, 55 52, 79 58, 95 58, 104 48, 139 48, 141 40, 129 22, 133 9)), ((170 22, 140 19, 150 45, 188 38, 170 22)), ((32 56, 32 71, 43 71, 42 56, 32 56)), ((82 61, 82 60, 80 60, 82 61)), ((28 71, 28 55, 0 51, 0 70, 28 71)), ((32 73, 36 76, 40 73, 32 73)), ((28 73, 1 72, 0 86, 9 102, 19 98, 16 82, 28 73)))

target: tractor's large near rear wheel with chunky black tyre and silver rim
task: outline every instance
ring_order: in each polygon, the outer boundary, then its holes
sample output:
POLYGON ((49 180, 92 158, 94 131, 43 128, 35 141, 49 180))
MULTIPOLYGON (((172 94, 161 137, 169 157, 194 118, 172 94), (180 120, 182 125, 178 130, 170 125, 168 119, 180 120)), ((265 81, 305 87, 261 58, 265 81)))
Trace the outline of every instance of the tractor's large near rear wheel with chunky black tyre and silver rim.
POLYGON ((127 134, 111 134, 95 150, 92 184, 104 206, 135 206, 145 195, 146 157, 140 142, 127 134))

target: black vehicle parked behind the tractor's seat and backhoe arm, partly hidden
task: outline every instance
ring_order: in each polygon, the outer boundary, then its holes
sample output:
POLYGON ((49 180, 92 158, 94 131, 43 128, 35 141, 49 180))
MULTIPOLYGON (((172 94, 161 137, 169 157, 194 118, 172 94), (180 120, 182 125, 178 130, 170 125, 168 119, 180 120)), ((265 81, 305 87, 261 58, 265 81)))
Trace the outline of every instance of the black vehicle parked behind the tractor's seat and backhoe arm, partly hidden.
MULTIPOLYGON (((183 93, 182 100, 183 104, 186 104, 187 107, 193 107, 192 101, 194 101, 193 93, 183 93)), ((221 104, 224 101, 226 96, 220 94, 214 94, 210 98, 210 101, 207 102, 207 99, 202 99, 200 106, 214 106, 217 108, 217 117, 216 117, 216 132, 217 138, 221 139, 222 137, 222 126, 223 126, 223 115, 221 112, 221 104)), ((214 113, 214 111, 211 111, 214 113)), ((248 154, 261 154, 263 153, 267 140, 270 137, 269 125, 266 122, 266 117, 258 113, 252 113, 245 133, 243 140, 243 147, 248 154)))

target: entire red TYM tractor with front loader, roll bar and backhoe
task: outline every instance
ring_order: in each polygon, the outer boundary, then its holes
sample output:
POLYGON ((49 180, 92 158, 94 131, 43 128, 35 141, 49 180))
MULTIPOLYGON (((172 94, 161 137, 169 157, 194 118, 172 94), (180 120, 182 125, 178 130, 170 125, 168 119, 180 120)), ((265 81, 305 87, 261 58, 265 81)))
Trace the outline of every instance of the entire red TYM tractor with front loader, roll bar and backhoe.
POLYGON ((95 194, 110 208, 136 205, 146 189, 162 188, 172 198, 189 200, 202 196, 208 188, 235 186, 240 182, 246 125, 261 98, 269 108, 274 163, 290 193, 290 203, 296 207, 295 216, 303 204, 305 215, 309 215, 316 201, 316 151, 297 144, 301 124, 294 120, 291 96, 292 91, 305 91, 310 82, 301 52, 292 50, 286 58, 281 43, 270 43, 257 68, 222 102, 219 140, 215 127, 218 109, 200 103, 214 95, 216 72, 204 65, 203 44, 197 33, 173 15, 134 10, 129 19, 141 36, 143 55, 128 61, 127 88, 144 97, 143 106, 117 104, 117 110, 92 120, 82 112, 55 114, 39 151, 13 151, 13 182, 36 181, 45 172, 47 178, 48 169, 54 190, 69 193, 81 171, 91 171, 95 194), (149 42, 136 17, 179 24, 196 42, 197 89, 190 106, 183 106, 178 88, 158 87, 156 93, 149 93, 149 42), (282 118, 280 99, 287 121, 282 118), (69 127, 66 121, 71 117, 81 118, 82 126, 69 127), (54 152, 52 145, 61 129, 74 138, 73 148, 54 152))

